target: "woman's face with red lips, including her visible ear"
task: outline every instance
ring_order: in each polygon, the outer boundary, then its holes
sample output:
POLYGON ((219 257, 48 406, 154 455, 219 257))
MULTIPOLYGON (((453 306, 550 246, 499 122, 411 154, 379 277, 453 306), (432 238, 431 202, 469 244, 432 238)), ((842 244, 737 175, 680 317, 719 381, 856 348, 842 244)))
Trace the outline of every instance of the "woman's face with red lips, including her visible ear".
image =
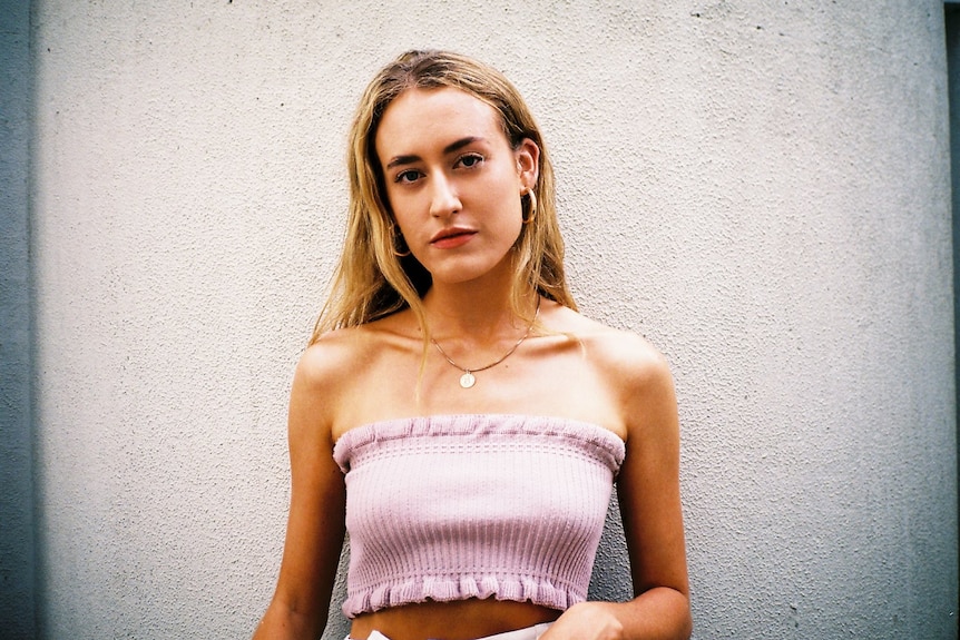
POLYGON ((442 88, 394 99, 374 145, 396 225, 434 284, 507 273, 520 196, 537 181, 533 141, 511 149, 490 105, 442 88))

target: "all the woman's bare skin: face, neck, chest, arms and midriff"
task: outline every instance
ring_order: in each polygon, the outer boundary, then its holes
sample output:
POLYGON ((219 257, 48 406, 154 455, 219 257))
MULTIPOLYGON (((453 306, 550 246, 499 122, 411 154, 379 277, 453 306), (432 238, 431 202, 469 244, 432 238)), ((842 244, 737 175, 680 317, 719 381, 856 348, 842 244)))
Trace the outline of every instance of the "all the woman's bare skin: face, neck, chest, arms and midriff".
MULTIPOLYGON (((401 93, 384 112, 375 148, 395 223, 433 276, 423 299, 433 337, 464 366, 497 360, 527 328, 509 304, 511 246, 522 228, 520 195, 536 185, 537 145, 511 148, 491 107, 444 88, 401 93)), ((528 303, 532 314, 535 293, 528 303)), ((428 601, 357 616, 352 638, 376 629, 392 640, 470 640, 552 620, 542 640, 689 637, 679 429, 666 363, 636 335, 546 298, 539 304, 547 331, 478 373, 469 390, 435 349, 421 375, 422 335, 409 311, 326 334, 304 353, 290 405, 286 543, 256 640, 315 638, 326 623, 344 536, 333 443, 380 420, 464 413, 569 417, 625 441, 617 490, 637 597, 562 613, 496 599, 428 601)))

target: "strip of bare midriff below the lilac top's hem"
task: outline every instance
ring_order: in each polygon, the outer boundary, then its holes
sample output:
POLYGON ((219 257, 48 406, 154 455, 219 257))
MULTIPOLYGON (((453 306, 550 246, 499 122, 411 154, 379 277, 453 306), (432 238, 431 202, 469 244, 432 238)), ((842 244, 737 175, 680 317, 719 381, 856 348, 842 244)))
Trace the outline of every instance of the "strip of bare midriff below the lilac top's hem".
POLYGON ((531 602, 493 599, 421 602, 361 613, 353 619, 350 637, 364 640, 376 630, 390 640, 473 640, 551 622, 560 613, 531 602))

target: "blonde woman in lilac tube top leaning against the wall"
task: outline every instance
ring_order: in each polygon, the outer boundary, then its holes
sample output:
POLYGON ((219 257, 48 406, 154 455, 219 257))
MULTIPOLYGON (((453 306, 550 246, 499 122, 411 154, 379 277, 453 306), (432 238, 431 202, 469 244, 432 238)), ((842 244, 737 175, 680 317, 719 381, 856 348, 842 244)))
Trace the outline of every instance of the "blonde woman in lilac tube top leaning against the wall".
POLYGON ((516 89, 461 56, 404 53, 361 100, 349 166, 255 638, 320 636, 345 530, 354 639, 688 638, 672 378, 643 338, 577 313, 516 89), (636 598, 586 602, 615 479, 636 598))

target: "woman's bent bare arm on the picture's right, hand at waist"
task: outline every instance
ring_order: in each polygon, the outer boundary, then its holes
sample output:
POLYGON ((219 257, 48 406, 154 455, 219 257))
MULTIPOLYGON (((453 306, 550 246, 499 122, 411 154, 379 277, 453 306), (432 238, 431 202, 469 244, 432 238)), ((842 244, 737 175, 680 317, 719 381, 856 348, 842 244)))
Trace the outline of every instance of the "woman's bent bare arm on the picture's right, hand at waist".
MULTIPOLYGON (((639 338, 638 338, 639 339, 639 338)), ((631 342, 631 341, 628 341, 631 342)), ((688 639, 693 629, 679 491, 679 424, 666 360, 645 341, 614 356, 627 426, 617 480, 635 598, 582 602, 541 640, 688 639), (630 362, 624 356, 629 353, 630 362)))

